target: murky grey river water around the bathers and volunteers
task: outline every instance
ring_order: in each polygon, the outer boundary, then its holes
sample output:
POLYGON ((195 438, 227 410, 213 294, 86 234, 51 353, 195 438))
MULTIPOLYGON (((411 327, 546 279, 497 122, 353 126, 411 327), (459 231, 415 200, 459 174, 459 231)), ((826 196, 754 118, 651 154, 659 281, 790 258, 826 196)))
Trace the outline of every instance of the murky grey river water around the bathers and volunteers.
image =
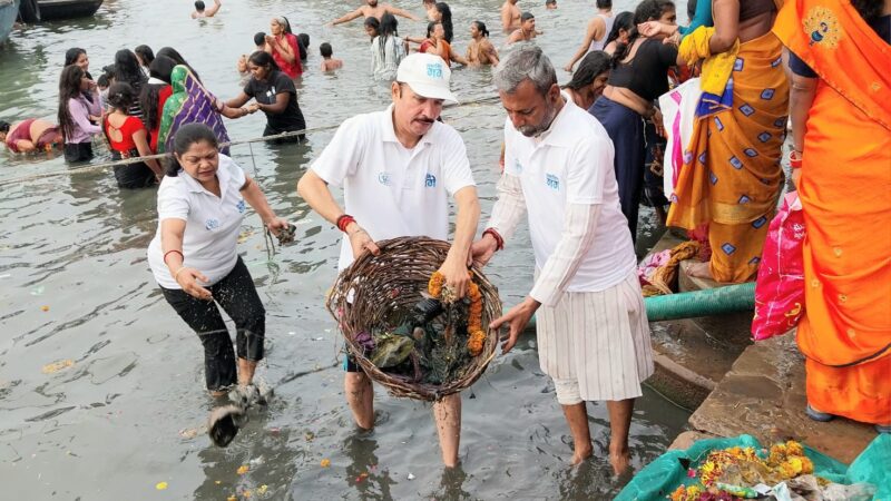
MULTIPOLYGON (((87 49, 97 75, 123 47, 169 45, 212 91, 234 96, 238 55, 249 51, 254 32, 266 31, 273 14, 285 14, 295 31, 312 37, 309 70, 298 82, 309 126, 336 126, 389 100, 386 87, 368 80, 361 21, 323 26, 351 8, 344 3, 224 0, 216 18, 194 21, 190 2, 106 0, 95 18, 13 32, 0 48, 0 117, 55 117, 58 75, 72 46, 87 49), (322 41, 344 59, 343 70, 320 73, 322 41)), ((499 3, 453 2, 459 50, 473 19, 488 21, 496 45, 503 42, 499 3)), ((542 3, 522 0, 520 7, 537 14, 545 31, 539 43, 562 67, 594 2, 562 0, 557 11, 545 11, 542 3)), ((420 2, 396 4, 423 13, 420 2)), ((402 21, 400 31, 421 36, 424 23, 402 21)), ((568 79, 561 70, 559 76, 568 79)), ((462 101, 495 95, 486 69, 457 70, 453 89, 462 101)), ((471 105, 448 109, 444 119, 468 145, 484 219, 495 196, 503 112, 497 105, 471 105)), ((231 121, 229 134, 260 136, 263 120, 257 114, 231 121)), ((323 308, 340 235, 294 189, 332 134, 311 134, 301 146, 233 148, 298 232, 296 244, 268 258, 258 218, 245 222, 239 250, 267 308, 268 354, 258 376, 276 396, 227 449, 212 446, 203 434, 213 402, 204 391, 199 343, 166 304, 146 263, 155 191, 121 193, 110 170, 67 173, 58 155, 0 153, 0 183, 65 171, 0 188, 0 498, 609 499, 627 482, 628 475, 611 478, 605 459, 604 404, 588 406, 595 459, 567 465, 571 440, 552 385, 538 369, 532 335, 496 358, 463 393, 461 469, 443 471, 425 404, 379 389, 376 431, 355 431, 342 394, 339 334, 323 308)), ((97 163, 107 158, 101 147, 98 157, 97 163)), ((640 252, 657 236, 652 213, 642 218, 647 235, 640 252)), ((528 291, 531 262, 521 229, 488 271, 507 305, 528 291)), ((634 468, 663 452, 686 419, 647 390, 631 426, 634 468)))

